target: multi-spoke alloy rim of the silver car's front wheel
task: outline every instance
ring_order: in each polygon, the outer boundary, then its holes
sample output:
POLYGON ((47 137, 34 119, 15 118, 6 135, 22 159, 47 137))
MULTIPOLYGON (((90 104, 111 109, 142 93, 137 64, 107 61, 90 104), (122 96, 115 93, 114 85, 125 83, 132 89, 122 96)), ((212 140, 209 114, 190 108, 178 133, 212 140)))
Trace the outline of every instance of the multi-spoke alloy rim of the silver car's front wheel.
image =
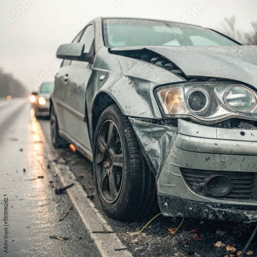
POLYGON ((96 179, 101 196, 113 204, 123 185, 123 151, 120 134, 112 120, 100 127, 96 144, 96 179))

